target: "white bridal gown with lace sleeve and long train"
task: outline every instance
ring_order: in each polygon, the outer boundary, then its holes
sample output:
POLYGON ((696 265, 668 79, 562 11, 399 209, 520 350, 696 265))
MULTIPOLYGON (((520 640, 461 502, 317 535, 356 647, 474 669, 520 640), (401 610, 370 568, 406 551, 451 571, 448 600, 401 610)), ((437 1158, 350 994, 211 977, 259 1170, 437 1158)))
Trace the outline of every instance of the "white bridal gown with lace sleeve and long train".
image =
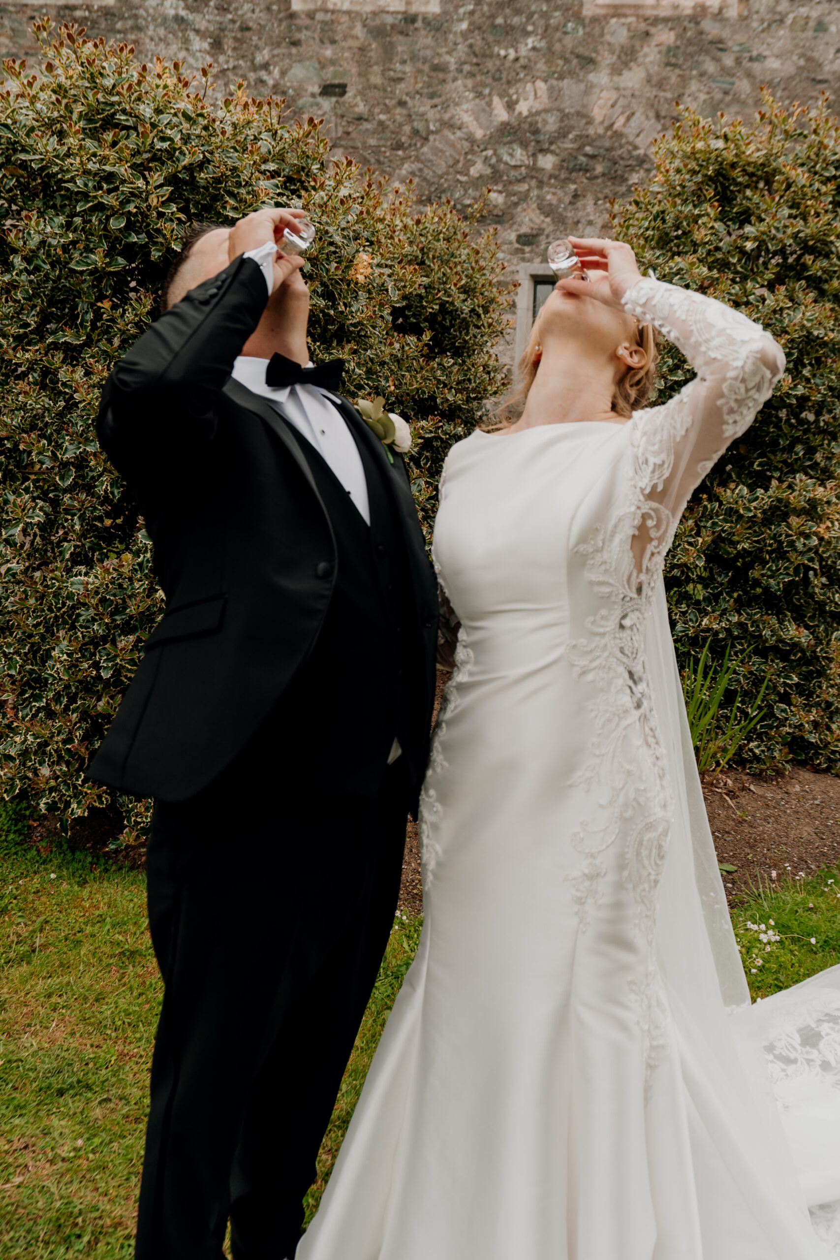
POLYGON ((840 1256, 840 968, 749 1007, 661 577, 785 360, 698 294, 625 306, 678 397, 446 461, 426 922, 297 1260, 840 1256))

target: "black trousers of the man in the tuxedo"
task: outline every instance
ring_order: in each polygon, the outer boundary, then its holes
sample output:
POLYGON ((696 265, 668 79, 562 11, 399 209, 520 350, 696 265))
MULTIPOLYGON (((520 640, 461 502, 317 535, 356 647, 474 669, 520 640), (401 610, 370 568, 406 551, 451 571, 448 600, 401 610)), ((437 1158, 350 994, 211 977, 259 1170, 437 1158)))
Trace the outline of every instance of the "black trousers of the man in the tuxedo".
POLYGON ((295 1254, 302 1198, 388 942, 409 789, 225 784, 159 804, 149 924, 165 997, 137 1260, 295 1254))

